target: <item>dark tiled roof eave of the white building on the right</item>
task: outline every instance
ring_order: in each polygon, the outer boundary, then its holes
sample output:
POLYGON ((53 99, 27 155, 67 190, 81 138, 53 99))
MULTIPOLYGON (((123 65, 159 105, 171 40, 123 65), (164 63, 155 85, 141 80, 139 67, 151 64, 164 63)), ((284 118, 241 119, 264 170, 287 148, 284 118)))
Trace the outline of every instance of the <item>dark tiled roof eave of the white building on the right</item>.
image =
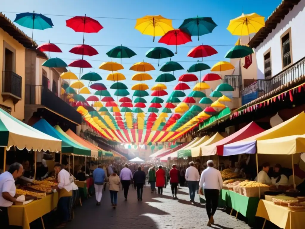
POLYGON ((285 16, 297 5, 301 0, 282 0, 281 4, 271 13, 262 27, 250 40, 249 46, 257 48, 271 33, 273 29, 285 18, 285 16))

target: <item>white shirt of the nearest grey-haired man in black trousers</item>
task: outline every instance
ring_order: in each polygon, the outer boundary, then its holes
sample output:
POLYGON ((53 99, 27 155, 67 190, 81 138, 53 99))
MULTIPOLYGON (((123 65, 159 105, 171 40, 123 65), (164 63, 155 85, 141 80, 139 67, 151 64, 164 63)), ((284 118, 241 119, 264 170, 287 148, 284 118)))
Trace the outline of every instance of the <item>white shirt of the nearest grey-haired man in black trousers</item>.
POLYGON ((199 181, 199 187, 202 187, 203 189, 220 190, 222 185, 222 177, 218 169, 209 166, 203 170, 199 181))

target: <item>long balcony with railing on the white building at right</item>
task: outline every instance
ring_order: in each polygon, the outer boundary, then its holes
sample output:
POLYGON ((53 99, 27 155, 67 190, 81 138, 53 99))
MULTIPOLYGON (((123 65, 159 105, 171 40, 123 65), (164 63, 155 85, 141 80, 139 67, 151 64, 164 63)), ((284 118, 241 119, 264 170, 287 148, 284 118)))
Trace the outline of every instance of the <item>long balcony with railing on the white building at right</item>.
POLYGON ((257 80, 241 91, 242 105, 285 85, 305 74, 305 57, 270 79, 257 80))

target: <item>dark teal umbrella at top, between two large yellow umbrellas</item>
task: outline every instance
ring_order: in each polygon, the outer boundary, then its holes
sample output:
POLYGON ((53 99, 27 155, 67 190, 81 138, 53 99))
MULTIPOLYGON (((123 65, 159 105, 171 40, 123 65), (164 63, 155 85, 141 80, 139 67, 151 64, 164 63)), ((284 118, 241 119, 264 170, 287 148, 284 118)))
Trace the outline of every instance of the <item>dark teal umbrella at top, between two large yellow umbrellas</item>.
POLYGON ((179 29, 190 34, 191 36, 199 36, 209 34, 217 26, 211 17, 192 17, 183 21, 179 29))

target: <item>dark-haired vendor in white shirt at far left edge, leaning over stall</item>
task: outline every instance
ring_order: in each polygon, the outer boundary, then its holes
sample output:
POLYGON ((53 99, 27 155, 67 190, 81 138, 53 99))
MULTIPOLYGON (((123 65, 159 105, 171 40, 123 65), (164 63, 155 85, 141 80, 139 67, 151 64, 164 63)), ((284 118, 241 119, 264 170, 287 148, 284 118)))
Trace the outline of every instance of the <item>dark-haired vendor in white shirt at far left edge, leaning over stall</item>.
POLYGON ((22 176, 23 167, 19 163, 9 166, 9 171, 0 175, 0 225, 9 228, 9 215, 7 208, 17 202, 15 180, 22 176))

